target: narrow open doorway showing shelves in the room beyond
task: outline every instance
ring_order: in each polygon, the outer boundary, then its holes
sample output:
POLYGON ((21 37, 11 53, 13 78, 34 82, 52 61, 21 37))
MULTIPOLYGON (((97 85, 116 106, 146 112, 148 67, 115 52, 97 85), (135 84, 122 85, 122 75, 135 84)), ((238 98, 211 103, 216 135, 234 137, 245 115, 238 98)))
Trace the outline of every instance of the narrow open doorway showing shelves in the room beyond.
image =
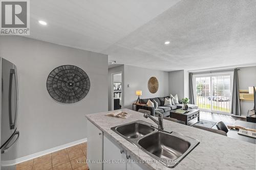
POLYGON ((112 110, 118 110, 122 108, 122 72, 112 74, 112 110))

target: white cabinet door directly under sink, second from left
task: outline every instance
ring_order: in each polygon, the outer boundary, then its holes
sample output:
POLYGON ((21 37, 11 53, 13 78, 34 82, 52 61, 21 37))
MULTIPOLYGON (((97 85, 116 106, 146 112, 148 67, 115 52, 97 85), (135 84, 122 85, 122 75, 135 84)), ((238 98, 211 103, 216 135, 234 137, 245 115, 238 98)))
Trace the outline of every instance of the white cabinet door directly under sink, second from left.
POLYGON ((103 163, 104 170, 121 170, 126 169, 126 157, 123 149, 117 147, 111 140, 103 137, 103 160, 110 161, 103 163), (120 161, 120 162, 112 162, 120 161))

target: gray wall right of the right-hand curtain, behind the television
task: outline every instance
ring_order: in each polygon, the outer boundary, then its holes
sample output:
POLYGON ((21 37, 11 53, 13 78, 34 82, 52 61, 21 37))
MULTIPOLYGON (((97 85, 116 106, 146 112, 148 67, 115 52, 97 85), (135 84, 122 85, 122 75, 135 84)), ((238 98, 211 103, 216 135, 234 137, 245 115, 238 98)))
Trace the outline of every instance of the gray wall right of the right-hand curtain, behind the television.
MULTIPOLYGON (((256 66, 243 67, 238 71, 239 89, 248 90, 249 86, 256 86, 256 66)), ((241 102, 242 116, 246 116, 249 109, 254 106, 253 101, 241 102)))

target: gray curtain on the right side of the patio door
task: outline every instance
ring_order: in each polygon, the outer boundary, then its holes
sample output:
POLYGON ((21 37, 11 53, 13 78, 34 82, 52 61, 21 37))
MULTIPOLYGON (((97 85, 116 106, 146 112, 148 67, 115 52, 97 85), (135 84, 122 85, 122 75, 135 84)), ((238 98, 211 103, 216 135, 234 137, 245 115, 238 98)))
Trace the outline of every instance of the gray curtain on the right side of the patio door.
POLYGON ((232 90, 232 100, 231 100, 231 114, 241 116, 241 108, 239 101, 239 82, 238 82, 238 69, 234 69, 233 78, 233 90, 232 90))

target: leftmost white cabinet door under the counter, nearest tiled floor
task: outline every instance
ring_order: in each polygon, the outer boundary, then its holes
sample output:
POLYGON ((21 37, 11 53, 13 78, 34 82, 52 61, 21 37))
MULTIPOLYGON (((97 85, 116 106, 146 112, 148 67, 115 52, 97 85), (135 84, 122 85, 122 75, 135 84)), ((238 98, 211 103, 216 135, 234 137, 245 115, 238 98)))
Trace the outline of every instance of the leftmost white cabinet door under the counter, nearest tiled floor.
POLYGON ((103 158, 103 132, 87 120, 87 160, 90 170, 101 170, 103 158), (93 162, 96 161, 96 162, 93 162))

